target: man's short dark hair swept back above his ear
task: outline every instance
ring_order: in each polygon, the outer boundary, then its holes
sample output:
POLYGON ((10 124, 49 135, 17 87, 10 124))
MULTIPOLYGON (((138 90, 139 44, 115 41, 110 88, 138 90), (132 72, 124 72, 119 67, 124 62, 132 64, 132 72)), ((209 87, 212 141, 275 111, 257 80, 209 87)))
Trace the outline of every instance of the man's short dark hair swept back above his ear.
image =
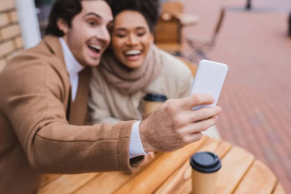
MULTIPOLYGON (((49 14, 49 24, 45 34, 51 34, 58 37, 64 36, 57 25, 58 19, 64 19, 69 27, 72 26, 72 19, 82 11, 82 0, 55 0, 49 14)), ((112 0, 105 0, 110 6, 112 0)))

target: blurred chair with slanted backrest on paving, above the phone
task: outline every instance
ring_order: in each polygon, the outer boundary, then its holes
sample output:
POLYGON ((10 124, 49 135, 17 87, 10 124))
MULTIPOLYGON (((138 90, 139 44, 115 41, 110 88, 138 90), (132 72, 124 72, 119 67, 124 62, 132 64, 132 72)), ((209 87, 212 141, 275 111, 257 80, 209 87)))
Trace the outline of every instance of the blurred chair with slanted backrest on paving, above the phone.
POLYGON ((220 32, 224 17, 225 17, 226 8, 222 8, 220 11, 220 16, 214 32, 210 38, 199 37, 199 36, 187 36, 186 42, 188 43, 191 54, 188 56, 188 59, 191 62, 197 62, 200 58, 208 59, 206 54, 215 46, 215 41, 218 33, 220 32))

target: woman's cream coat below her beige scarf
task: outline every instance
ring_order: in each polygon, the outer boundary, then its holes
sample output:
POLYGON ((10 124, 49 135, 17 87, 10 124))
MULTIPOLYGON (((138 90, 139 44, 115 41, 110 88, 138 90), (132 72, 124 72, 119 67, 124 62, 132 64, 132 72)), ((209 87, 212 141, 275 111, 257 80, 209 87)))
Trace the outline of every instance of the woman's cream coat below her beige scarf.
POLYGON ((190 93, 193 76, 190 69, 180 60, 160 50, 162 73, 143 90, 134 95, 123 95, 109 85, 100 70, 93 69, 90 84, 89 113, 91 122, 117 123, 132 119, 141 120, 143 114, 142 99, 146 93, 163 94, 169 99, 186 97, 190 93))

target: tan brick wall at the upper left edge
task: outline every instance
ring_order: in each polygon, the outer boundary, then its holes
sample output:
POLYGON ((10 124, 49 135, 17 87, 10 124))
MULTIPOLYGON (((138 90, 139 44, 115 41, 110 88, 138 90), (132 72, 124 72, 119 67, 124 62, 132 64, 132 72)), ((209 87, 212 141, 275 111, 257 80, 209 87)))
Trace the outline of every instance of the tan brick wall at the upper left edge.
POLYGON ((0 0, 0 72, 7 60, 23 49, 15 0, 0 0))

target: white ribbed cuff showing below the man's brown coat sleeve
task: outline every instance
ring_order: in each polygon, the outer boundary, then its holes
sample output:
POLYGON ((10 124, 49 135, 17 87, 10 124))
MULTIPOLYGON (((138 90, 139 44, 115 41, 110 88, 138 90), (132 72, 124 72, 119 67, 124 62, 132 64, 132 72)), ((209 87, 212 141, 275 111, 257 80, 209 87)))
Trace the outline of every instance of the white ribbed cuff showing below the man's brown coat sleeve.
POLYGON ((141 121, 135 122, 131 128, 131 135, 129 140, 129 159, 147 154, 139 136, 140 122, 141 121))

